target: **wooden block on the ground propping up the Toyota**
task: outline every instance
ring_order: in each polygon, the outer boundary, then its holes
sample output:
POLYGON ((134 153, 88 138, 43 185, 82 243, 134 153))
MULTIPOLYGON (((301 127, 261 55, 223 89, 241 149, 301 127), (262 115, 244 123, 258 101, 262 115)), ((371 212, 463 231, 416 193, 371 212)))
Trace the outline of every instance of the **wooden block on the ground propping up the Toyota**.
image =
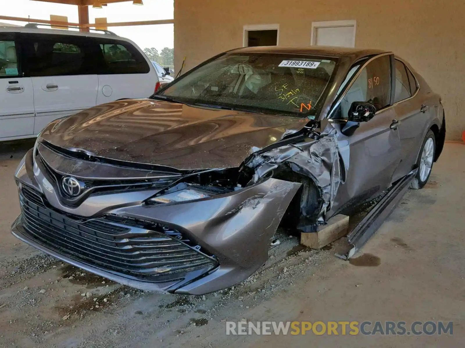
POLYGON ((318 232, 300 233, 300 244, 312 249, 321 249, 325 245, 345 236, 349 229, 349 217, 336 215, 328 220, 328 224, 321 226, 318 232))

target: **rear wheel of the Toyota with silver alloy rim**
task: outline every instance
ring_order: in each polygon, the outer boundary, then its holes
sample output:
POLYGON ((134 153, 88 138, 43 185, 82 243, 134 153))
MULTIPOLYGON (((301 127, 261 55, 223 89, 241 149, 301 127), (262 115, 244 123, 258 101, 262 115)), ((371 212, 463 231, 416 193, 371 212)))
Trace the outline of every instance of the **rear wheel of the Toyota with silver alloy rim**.
POLYGON ((430 178, 433 168, 434 155, 436 154, 436 138, 432 130, 428 130, 421 144, 419 158, 417 161, 418 172, 412 180, 410 187, 414 189, 423 188, 430 178))

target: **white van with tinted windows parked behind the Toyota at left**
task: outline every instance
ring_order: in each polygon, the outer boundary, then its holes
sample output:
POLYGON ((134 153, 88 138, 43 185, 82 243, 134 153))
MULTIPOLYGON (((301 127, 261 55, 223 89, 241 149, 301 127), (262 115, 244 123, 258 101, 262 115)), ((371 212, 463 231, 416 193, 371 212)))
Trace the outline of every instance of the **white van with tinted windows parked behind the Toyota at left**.
POLYGON ((34 137, 51 121, 159 86, 150 60, 112 32, 0 27, 0 142, 34 137))

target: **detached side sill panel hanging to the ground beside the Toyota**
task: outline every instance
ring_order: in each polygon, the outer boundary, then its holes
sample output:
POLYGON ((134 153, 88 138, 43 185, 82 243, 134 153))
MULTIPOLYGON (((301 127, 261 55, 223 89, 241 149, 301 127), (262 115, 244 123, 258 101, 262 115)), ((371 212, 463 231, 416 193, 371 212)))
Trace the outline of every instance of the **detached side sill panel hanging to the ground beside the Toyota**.
POLYGON ((385 219, 391 215, 398 206, 402 197, 410 185, 410 182, 417 174, 417 169, 412 171, 405 178, 392 187, 392 189, 380 200, 372 210, 360 221, 359 225, 347 236, 348 242, 353 245, 352 249, 346 255, 337 255, 339 258, 349 259, 372 237, 378 228, 383 224, 385 219))

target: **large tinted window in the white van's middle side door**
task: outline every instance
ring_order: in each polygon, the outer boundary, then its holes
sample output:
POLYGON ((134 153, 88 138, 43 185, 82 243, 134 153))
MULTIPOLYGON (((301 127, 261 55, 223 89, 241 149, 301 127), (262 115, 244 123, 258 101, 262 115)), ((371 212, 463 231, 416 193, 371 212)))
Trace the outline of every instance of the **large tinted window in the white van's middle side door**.
POLYGON ((25 74, 30 77, 88 75, 93 50, 86 38, 71 35, 22 34, 25 74))

